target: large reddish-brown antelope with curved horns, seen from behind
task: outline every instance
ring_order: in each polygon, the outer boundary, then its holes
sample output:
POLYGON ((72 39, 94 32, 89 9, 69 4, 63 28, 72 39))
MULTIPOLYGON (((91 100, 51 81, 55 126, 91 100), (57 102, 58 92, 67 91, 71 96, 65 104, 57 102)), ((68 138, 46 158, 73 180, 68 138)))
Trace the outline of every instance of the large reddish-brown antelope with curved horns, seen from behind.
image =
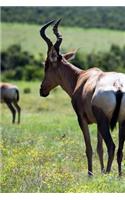
POLYGON ((77 114, 79 126, 83 132, 86 155, 88 160, 88 175, 92 175, 92 146, 88 125, 97 124, 97 152, 101 170, 103 163, 103 139, 108 150, 106 172, 110 172, 114 158, 115 144, 110 134, 116 123, 119 123, 119 147, 117 152, 118 172, 121 175, 123 145, 125 141, 125 75, 116 72, 103 72, 98 68, 80 70, 69 59, 74 52, 64 55, 60 53, 62 35, 58 32, 58 20, 53 32, 57 41, 53 45, 45 35, 46 28, 55 20, 44 25, 40 30, 41 37, 48 45, 45 61, 45 77, 40 87, 40 95, 46 97, 49 92, 60 85, 71 97, 73 108, 77 114))

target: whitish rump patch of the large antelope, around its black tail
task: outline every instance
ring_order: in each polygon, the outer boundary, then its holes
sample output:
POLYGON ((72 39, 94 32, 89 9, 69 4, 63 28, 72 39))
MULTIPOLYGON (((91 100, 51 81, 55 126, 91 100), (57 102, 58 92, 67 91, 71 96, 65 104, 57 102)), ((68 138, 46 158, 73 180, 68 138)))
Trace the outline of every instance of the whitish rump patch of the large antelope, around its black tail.
POLYGON ((110 120, 116 107, 116 92, 123 92, 119 119, 125 119, 125 75, 116 72, 105 73, 97 81, 96 89, 92 98, 92 105, 101 108, 110 120))

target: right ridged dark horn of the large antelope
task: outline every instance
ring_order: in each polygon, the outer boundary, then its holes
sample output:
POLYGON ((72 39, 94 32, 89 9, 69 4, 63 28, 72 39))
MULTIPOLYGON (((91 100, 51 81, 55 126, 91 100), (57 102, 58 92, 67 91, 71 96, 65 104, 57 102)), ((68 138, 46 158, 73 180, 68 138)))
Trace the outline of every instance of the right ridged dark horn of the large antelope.
POLYGON ((61 42, 62 42, 62 35, 58 32, 58 25, 60 23, 61 19, 59 19, 55 25, 53 26, 53 32, 54 34, 56 35, 57 37, 57 41, 56 43, 54 44, 54 47, 56 48, 57 52, 59 53, 59 47, 61 45, 61 42))

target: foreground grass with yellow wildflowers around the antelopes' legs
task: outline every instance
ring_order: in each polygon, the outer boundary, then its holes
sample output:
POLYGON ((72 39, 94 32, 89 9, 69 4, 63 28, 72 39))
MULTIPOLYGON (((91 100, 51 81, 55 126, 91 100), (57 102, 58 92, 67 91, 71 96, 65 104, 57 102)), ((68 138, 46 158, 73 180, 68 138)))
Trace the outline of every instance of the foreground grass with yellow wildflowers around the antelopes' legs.
MULTIPOLYGON (((88 178, 84 141, 69 97, 57 88, 40 98, 40 83, 16 84, 21 124, 12 125, 9 110, 1 105, 1 192, 125 192, 125 152, 121 179, 116 156, 112 172, 101 175, 92 125, 94 177, 88 178), (30 94, 23 92, 27 87, 30 94)), ((112 135, 117 145, 117 130, 112 135)), ((106 149, 104 159, 106 164, 106 149)))

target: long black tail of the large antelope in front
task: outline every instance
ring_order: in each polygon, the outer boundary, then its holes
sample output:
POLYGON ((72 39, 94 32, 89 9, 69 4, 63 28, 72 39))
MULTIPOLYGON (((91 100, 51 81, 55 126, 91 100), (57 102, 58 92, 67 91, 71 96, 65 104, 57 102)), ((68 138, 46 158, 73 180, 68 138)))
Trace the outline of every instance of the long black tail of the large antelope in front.
POLYGON ((118 90, 115 93, 115 95, 116 95, 116 107, 115 107, 115 110, 113 112, 113 115, 112 115, 112 118, 111 118, 111 121, 110 121, 110 127, 111 127, 112 131, 115 128, 117 120, 118 120, 123 93, 120 90, 118 90))

